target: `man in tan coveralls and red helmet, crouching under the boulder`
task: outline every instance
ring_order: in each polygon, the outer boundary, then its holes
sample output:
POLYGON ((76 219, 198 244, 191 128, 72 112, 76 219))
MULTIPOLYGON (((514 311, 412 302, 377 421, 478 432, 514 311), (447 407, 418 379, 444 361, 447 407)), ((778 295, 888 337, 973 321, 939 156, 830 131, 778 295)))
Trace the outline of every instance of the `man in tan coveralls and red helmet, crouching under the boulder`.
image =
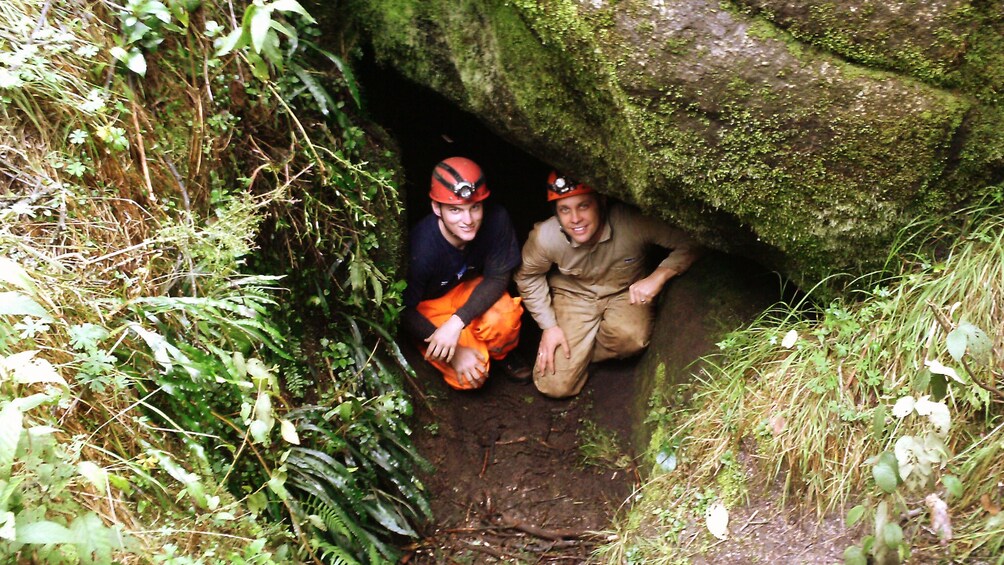
POLYGON ((630 357, 649 345, 654 300, 701 248, 683 231, 552 172, 554 216, 523 246, 516 284, 543 330, 533 381, 555 398, 578 394, 590 362, 630 357), (651 273, 650 244, 672 250, 651 273))

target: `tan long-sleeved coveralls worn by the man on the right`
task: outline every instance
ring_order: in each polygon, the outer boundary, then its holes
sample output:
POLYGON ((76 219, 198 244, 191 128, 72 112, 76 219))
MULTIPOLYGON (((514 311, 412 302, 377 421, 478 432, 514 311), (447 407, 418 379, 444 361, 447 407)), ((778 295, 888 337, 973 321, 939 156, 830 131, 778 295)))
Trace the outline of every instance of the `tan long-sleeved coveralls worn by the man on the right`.
POLYGON ((593 245, 567 238, 555 217, 534 226, 515 281, 540 328, 560 326, 571 349, 568 359, 560 347, 555 351, 554 374, 534 367, 533 381, 542 393, 575 395, 585 384, 589 362, 630 357, 649 345, 654 306, 632 304, 629 287, 649 275, 650 244, 672 250, 660 267, 678 273, 700 255, 682 230, 621 204, 610 207, 593 245))

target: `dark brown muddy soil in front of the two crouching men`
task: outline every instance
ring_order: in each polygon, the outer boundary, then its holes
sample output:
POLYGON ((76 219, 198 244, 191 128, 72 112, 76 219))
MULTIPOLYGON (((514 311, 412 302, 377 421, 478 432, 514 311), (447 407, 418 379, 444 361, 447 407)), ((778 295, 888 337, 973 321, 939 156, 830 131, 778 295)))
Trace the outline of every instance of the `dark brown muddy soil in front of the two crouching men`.
POLYGON ((630 465, 586 465, 580 431, 601 431, 626 456, 621 463, 631 461, 635 363, 594 365, 578 396, 555 400, 495 367, 482 389, 453 390, 421 358, 410 360, 422 389, 414 439, 434 467, 421 479, 436 524, 407 548, 406 561, 589 562, 638 474, 630 465))

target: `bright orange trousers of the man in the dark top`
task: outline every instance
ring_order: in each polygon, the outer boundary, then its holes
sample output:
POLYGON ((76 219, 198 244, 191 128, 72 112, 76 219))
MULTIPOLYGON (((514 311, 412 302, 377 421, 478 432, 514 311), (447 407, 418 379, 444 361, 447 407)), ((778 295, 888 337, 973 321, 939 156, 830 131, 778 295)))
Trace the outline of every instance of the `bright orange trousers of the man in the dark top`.
MULTIPOLYGON (((471 292, 480 282, 481 277, 462 282, 439 298, 419 302, 416 309, 433 325, 439 327, 467 303, 471 292)), ((523 315, 520 300, 519 297, 513 298, 508 293, 503 293, 491 308, 471 320, 471 323, 460 332, 457 345, 471 347, 481 353, 481 357, 485 359, 482 367, 485 373, 491 364, 490 359, 505 357, 506 353, 519 344, 519 328, 523 315)), ((425 343, 419 346, 420 350, 424 351, 425 348, 425 343)), ((450 363, 435 359, 430 359, 429 362, 443 373, 443 378, 450 386, 458 390, 472 388, 469 384, 460 382, 457 371, 453 370, 450 363)))

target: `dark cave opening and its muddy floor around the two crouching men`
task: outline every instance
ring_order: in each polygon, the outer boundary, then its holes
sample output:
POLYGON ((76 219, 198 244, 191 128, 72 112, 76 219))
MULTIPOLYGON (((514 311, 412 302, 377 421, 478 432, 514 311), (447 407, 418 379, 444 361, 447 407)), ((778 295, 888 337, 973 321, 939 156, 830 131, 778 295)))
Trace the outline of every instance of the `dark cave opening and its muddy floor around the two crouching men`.
MULTIPOLYGON (((409 227, 431 212, 433 167, 453 156, 482 167, 492 201, 509 211, 521 244, 551 214, 547 164, 371 60, 359 79, 370 117, 398 145, 409 227)), ((410 383, 413 438, 434 466, 421 479, 435 523, 407 548, 410 562, 587 561, 602 543, 594 532, 608 528, 641 482, 636 448, 648 442, 641 422, 656 388, 689 378, 690 362, 714 348, 723 326, 752 318, 777 301, 780 288, 775 274, 752 262, 709 254, 664 290, 649 352, 591 366, 572 399, 544 397, 501 373, 480 390, 459 392, 402 343, 418 373, 410 383), (732 292, 735 285, 743 292, 732 292), (654 380, 674 367, 676 376, 654 380)), ((532 359, 539 337, 524 315, 517 353, 532 359)))

